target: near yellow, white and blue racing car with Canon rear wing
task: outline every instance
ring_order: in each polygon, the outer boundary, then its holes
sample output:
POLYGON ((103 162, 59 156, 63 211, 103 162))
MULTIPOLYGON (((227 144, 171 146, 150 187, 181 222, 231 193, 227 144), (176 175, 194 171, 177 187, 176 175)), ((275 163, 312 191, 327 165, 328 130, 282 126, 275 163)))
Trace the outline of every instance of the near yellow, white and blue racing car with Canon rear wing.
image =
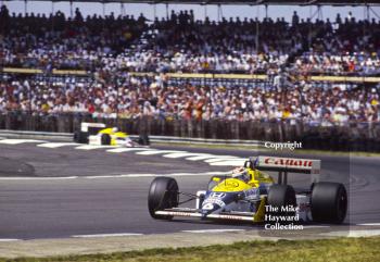
POLYGON ((181 192, 172 177, 156 177, 150 186, 148 209, 153 219, 174 216, 201 220, 268 222, 268 215, 297 215, 300 222, 343 223, 347 192, 343 184, 319 182, 320 160, 277 157, 250 158, 225 176, 212 176, 207 190, 181 192), (277 183, 265 173, 278 172, 277 183), (288 173, 311 174, 306 189, 288 185, 288 173), (179 196, 186 196, 179 201, 179 196), (195 200, 194 208, 179 207, 195 200), (269 208, 268 208, 269 207, 269 208))

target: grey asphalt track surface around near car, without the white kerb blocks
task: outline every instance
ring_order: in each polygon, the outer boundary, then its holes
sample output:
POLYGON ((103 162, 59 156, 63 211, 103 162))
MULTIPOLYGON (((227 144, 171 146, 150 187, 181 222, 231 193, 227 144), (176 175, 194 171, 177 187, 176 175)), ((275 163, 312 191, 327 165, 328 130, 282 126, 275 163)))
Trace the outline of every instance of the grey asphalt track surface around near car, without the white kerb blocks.
MULTIPOLYGON (((169 146, 153 148, 241 158, 278 154, 256 150, 169 146)), ((286 151, 282 155, 292 154, 286 151)), ((321 159, 321 179, 346 185, 350 211, 345 225, 380 222, 379 158, 296 157, 321 159)), ((41 148, 34 142, 0 144, 0 239, 66 238, 97 234, 145 235, 217 228, 259 229, 259 225, 181 219, 166 222, 150 217, 147 197, 153 177, 147 175, 178 175, 176 179, 180 190, 195 192, 206 188, 211 176, 206 173, 229 170, 229 166, 212 166, 204 161, 168 159, 162 154, 141 155, 135 151, 111 153, 104 148, 76 150, 69 146, 41 148)), ((293 175, 290 184, 303 187, 308 185, 308 179, 306 175, 293 175)))

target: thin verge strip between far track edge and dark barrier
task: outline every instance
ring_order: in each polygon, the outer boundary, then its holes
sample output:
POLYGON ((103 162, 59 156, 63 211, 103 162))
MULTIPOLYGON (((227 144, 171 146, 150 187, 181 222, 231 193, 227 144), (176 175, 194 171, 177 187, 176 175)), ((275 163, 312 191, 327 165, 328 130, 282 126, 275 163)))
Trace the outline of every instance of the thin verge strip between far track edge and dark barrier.
POLYGON ((233 150, 250 150, 250 151, 267 151, 267 152, 277 152, 277 153, 299 153, 299 154, 325 154, 325 155, 343 155, 343 157, 375 157, 379 158, 380 153, 376 152, 347 152, 347 151, 329 151, 329 150, 313 150, 313 149, 295 149, 290 150, 270 150, 263 147, 255 146, 233 146, 233 145, 205 145, 205 144, 191 144, 191 142, 154 142, 159 146, 170 146, 170 147, 190 147, 190 148, 215 148, 215 149, 233 149, 233 150))

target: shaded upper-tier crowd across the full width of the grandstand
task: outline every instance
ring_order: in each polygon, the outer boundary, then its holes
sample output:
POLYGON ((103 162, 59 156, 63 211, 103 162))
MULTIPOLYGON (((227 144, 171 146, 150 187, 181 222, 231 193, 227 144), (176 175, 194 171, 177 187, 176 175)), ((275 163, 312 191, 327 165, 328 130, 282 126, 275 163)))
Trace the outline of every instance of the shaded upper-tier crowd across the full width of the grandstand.
POLYGON ((180 11, 149 21, 113 13, 0 11, 0 63, 23 67, 137 72, 267 73, 281 66, 316 74, 380 74, 379 21, 194 18, 180 11))

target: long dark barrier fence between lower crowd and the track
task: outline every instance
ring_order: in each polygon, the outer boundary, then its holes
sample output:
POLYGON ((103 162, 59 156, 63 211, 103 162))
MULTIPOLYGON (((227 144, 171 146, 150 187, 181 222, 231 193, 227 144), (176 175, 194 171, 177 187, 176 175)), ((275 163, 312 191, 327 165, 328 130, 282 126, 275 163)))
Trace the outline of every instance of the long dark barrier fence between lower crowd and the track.
MULTIPOLYGON (((195 121, 142 116, 137 118, 93 118, 89 114, 38 115, 25 112, 0 114, 0 129, 69 134, 81 122, 101 122, 131 135, 173 142, 257 145, 257 141, 301 141, 303 148, 337 151, 380 152, 379 123, 309 125, 296 120, 195 121), (176 138, 176 139, 173 139, 176 138)), ((0 134, 1 135, 1 134, 0 134)), ((153 140, 152 140, 153 141, 153 140)))

